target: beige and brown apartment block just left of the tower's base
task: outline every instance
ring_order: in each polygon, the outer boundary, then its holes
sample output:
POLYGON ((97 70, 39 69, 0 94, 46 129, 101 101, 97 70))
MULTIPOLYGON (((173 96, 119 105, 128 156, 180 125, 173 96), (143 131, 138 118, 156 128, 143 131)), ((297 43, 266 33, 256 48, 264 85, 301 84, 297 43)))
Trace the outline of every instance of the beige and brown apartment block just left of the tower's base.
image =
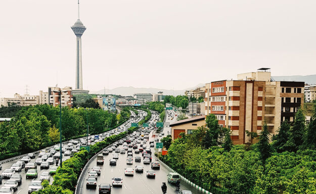
POLYGON ((72 98, 72 87, 65 87, 65 88, 59 88, 59 87, 49 87, 49 104, 53 106, 59 106, 60 104, 60 98, 62 102, 62 107, 68 106, 72 107, 73 105, 73 98, 72 98), (59 92, 54 91, 63 91, 61 93, 61 96, 59 95, 59 92))

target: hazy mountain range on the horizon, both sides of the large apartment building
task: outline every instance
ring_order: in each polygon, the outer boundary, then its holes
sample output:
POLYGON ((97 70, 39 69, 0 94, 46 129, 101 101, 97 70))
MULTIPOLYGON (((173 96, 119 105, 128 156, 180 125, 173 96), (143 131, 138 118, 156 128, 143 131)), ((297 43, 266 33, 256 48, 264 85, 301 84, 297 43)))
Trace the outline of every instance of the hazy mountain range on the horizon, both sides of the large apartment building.
MULTIPOLYGON (((314 85, 316 84, 316 75, 309 76, 272 76, 275 81, 296 81, 296 82, 305 82, 305 84, 314 85)), ((164 95, 184 95, 186 90, 196 89, 197 87, 203 87, 205 84, 198 84, 192 88, 186 88, 183 90, 165 90, 158 88, 135 88, 132 86, 129 87, 118 87, 111 90, 106 89, 107 94, 119 94, 122 96, 132 96, 136 93, 158 93, 163 92, 164 95)), ((91 92, 91 94, 104 94, 105 91, 99 90, 91 92)))

